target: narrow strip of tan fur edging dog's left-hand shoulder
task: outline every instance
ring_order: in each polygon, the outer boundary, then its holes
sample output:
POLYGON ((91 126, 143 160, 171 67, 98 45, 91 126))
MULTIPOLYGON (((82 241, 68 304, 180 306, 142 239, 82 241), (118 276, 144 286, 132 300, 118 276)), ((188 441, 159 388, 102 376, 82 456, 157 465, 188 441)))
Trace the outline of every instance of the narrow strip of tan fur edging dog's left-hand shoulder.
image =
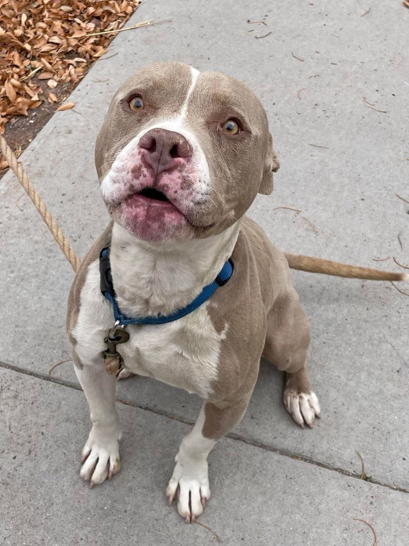
POLYGON ((99 254, 104 247, 110 246, 112 238, 112 225, 113 222, 110 222, 107 225, 98 239, 95 240, 92 247, 85 254, 76 272, 73 284, 71 284, 67 302, 67 333, 73 345, 75 345, 76 340, 73 338, 72 331, 75 328, 78 314, 80 312, 81 290, 87 277, 89 265, 99 258, 99 254))

